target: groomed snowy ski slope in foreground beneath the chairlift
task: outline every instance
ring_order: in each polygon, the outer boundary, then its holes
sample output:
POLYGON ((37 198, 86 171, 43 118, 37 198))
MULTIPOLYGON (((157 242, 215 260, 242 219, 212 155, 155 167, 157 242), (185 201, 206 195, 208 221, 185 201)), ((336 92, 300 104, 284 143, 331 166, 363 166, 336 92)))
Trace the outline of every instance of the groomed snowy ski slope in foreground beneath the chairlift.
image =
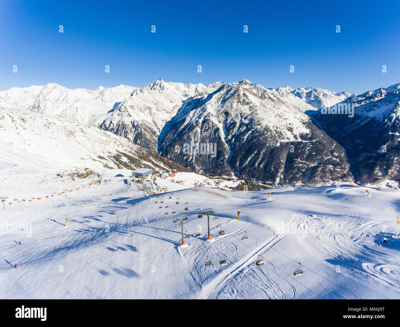
POLYGON ((2 299, 400 298, 396 190, 277 188, 268 198, 268 190, 196 187, 208 180, 178 172, 156 179, 168 192, 152 199, 114 177, 128 170, 96 170, 107 181, 90 186, 89 177, 56 175, 68 168, 1 150, 2 299), (211 241, 197 208, 214 211, 211 241), (182 246, 181 223, 172 221, 185 214, 182 246), (294 276, 298 262, 304 273, 294 276))

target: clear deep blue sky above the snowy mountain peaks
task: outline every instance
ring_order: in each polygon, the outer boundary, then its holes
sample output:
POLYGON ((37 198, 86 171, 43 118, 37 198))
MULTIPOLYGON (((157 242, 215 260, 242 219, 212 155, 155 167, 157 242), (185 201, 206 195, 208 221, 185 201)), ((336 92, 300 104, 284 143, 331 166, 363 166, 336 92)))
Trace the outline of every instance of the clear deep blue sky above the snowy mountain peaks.
POLYGON ((0 90, 246 78, 267 88, 360 94, 400 82, 398 0, 2 0, 0 6, 0 90))

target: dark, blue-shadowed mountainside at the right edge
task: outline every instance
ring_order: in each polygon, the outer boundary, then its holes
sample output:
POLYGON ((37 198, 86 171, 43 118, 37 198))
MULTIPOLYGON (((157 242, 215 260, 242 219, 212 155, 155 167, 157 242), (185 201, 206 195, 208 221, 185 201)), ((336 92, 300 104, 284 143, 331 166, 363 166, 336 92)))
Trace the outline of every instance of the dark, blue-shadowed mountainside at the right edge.
POLYGON ((320 112, 310 117, 346 149, 356 181, 400 179, 400 84, 352 96, 342 104, 354 106, 353 117, 320 112))

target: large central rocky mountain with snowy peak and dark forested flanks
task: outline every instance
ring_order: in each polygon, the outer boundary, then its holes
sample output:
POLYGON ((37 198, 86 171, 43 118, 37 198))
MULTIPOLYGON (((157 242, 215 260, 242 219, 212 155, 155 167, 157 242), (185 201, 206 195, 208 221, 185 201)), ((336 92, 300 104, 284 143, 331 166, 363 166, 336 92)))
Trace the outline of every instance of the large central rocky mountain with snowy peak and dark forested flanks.
POLYGON ((350 181, 344 149, 307 109, 314 108, 247 80, 223 84, 184 102, 164 127, 159 152, 193 170, 271 184, 350 181))

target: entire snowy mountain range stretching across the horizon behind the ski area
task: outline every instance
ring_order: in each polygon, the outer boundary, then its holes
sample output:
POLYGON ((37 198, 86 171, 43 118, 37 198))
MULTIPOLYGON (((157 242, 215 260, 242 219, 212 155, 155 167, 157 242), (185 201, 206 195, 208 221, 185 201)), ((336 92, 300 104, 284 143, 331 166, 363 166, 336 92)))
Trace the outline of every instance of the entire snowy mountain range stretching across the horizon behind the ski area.
MULTIPOLYGON (((0 92, 0 137, 12 142, 9 131, 23 128, 15 122, 24 117, 36 125, 25 124, 26 132, 20 133, 33 135, 37 129, 46 134, 47 126, 58 140, 69 130, 71 137, 76 136, 74 142, 93 144, 87 158, 102 165, 112 164, 110 156, 117 151, 128 154, 125 147, 134 143, 129 156, 139 151, 159 165, 166 158, 165 167, 179 164, 270 185, 382 183, 400 179, 399 90, 396 84, 356 95, 322 88, 264 88, 248 80, 208 86, 158 80, 144 88, 120 85, 97 90, 69 90, 49 83, 0 92), (353 117, 323 114, 322 108, 345 106, 354 108, 353 117), (116 136, 103 138, 99 129, 116 136), (108 138, 115 143, 105 154, 108 138)), ((28 140, 18 137, 25 150, 31 148, 28 140)), ((65 152, 72 160, 68 147, 65 152)))

